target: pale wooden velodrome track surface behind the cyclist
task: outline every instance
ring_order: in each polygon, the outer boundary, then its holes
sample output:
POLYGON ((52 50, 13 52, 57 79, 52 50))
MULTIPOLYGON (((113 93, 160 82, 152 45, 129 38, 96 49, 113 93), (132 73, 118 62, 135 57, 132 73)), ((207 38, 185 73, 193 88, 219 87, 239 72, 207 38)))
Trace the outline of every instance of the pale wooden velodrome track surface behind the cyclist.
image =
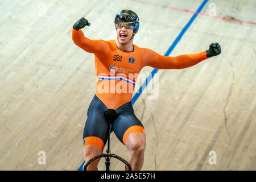
MULTIPOLYGON (((88 38, 115 39, 115 14, 131 9, 141 22, 134 44, 164 55, 202 2, 2 0, 0 170, 77 170, 84 161, 96 75, 94 56, 71 39, 78 19, 91 23, 83 29, 88 38), (38 164, 39 151, 46 164, 38 164)), ((147 136, 142 170, 256 169, 255 11, 254 0, 208 1, 184 32, 170 56, 204 51, 212 42, 222 53, 191 68, 159 70, 158 98, 139 96, 133 106, 147 136), (214 17, 207 15, 210 3, 214 17)), ((127 159, 115 135, 111 149, 127 159)), ((104 170, 104 159, 98 168, 104 170)), ((112 159, 112 169, 124 165, 112 159)))

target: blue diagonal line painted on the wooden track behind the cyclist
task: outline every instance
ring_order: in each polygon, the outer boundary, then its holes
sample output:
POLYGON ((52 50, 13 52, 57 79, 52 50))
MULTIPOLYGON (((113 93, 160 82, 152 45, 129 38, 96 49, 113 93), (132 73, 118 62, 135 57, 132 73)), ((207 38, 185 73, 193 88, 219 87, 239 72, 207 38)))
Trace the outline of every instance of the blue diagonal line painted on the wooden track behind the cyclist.
MULTIPOLYGON (((209 0, 204 0, 199 8, 197 9, 196 13, 200 13, 201 10, 204 8, 205 4, 209 0)), ((188 28, 191 26, 193 21, 196 19, 196 16, 198 14, 193 14, 192 18, 189 20, 189 22, 185 25, 185 27, 181 30, 180 34, 177 36, 177 38, 174 40, 170 48, 167 50, 167 52, 164 54, 164 56, 169 56, 172 50, 176 47, 177 43, 179 43, 180 39, 182 36, 185 34, 185 32, 188 30, 188 28)), ((134 103, 138 100, 139 96, 141 96, 142 91, 146 88, 148 83, 152 80, 154 77, 155 73, 158 72, 159 69, 154 68, 151 72, 151 75, 147 77, 147 79, 143 82, 142 86, 139 88, 139 90, 134 94, 133 98, 131 98, 131 104, 134 105, 134 103)), ((78 171, 82 171, 82 167, 84 166, 84 162, 81 164, 79 167, 78 171)))

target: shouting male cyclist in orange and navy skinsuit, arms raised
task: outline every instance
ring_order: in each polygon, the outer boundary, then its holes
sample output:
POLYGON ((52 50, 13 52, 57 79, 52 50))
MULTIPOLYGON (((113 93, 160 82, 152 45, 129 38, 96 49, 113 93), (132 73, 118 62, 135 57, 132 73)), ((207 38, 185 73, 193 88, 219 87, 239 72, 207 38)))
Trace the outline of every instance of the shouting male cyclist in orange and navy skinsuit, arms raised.
MULTIPOLYGON (((113 123, 113 131, 129 150, 128 162, 132 169, 141 170, 146 134, 130 102, 139 72, 145 66, 158 69, 192 67, 209 57, 219 55, 221 47, 218 43, 212 43, 207 51, 176 57, 162 56, 151 49, 133 44, 134 35, 139 30, 139 18, 133 11, 119 11, 114 22, 117 38, 107 41, 85 38, 81 28, 90 25, 85 18, 73 25, 73 42, 86 52, 94 53, 97 76, 96 94, 89 105, 84 127, 84 158, 86 163, 102 154, 108 140, 108 123, 104 113, 108 109, 114 109, 118 117, 113 123)), ((97 170, 99 161, 97 159, 91 163, 88 170, 97 170)))

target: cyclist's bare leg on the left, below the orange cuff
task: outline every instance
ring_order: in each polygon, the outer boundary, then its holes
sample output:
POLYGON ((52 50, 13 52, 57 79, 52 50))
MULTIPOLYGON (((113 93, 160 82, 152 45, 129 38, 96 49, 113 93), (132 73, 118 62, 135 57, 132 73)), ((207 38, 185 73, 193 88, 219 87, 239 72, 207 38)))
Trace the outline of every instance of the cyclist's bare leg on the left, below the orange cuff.
MULTIPOLYGON (((84 147, 84 161, 85 163, 88 162, 90 159, 94 158, 97 155, 102 154, 101 147, 89 145, 84 147)), ((87 167, 88 171, 98 171, 98 163, 100 162, 100 159, 94 160, 92 163, 89 164, 87 167)), ((85 164, 84 164, 85 165, 85 164)))

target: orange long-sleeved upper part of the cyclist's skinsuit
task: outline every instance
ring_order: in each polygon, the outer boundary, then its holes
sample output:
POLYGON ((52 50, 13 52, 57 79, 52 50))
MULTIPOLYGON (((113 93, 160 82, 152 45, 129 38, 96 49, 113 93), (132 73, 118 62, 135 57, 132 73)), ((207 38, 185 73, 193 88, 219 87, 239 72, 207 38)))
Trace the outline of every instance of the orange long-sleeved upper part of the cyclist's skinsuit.
POLYGON ((162 56, 151 49, 140 48, 134 44, 132 52, 124 52, 118 49, 115 40, 90 40, 85 38, 81 30, 75 29, 72 30, 72 39, 86 52, 94 53, 96 96, 108 109, 117 109, 131 101, 135 82, 143 67, 182 69, 209 58, 206 51, 176 57, 162 56))

